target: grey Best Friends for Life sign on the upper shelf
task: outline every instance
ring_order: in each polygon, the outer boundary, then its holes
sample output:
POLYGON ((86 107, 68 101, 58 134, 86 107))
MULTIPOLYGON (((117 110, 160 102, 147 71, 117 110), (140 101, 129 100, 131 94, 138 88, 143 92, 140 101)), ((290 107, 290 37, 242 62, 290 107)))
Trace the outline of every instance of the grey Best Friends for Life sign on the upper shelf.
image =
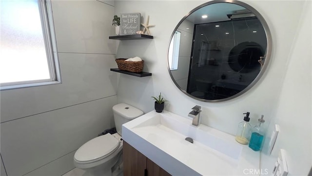
POLYGON ((120 14, 120 30, 121 35, 136 34, 140 30, 140 13, 120 14))

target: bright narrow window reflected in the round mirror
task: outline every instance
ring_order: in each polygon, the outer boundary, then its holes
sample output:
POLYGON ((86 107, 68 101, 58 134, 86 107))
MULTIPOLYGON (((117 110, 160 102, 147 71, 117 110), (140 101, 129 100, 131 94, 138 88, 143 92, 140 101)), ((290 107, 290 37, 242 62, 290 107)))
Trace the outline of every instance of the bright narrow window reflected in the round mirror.
POLYGON ((168 61, 170 70, 177 70, 180 50, 180 37, 181 33, 176 31, 169 45, 168 61))

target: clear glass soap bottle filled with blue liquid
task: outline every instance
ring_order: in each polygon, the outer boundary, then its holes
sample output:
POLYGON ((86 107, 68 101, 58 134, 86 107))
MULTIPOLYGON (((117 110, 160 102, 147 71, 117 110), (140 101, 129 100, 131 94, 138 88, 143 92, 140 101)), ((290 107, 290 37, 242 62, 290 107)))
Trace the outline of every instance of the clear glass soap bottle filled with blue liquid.
POLYGON ((249 147, 254 151, 260 151, 262 149, 262 142, 264 137, 264 128, 263 128, 263 115, 258 119, 258 125, 254 126, 252 129, 252 137, 250 138, 249 147))

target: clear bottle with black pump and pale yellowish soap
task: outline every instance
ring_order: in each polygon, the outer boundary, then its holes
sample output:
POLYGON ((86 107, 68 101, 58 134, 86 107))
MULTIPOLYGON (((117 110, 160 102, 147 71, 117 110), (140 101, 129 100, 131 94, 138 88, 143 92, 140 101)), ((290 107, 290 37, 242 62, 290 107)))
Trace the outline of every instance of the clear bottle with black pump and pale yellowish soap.
POLYGON ((241 144, 247 145, 250 139, 252 126, 249 124, 250 112, 244 114, 246 114, 246 116, 244 117, 244 121, 238 124, 235 140, 241 144))

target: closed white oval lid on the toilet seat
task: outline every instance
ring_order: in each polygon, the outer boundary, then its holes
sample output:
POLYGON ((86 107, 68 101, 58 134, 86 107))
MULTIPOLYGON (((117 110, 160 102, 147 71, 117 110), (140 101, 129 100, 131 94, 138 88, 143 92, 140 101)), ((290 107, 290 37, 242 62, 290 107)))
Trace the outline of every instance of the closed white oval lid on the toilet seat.
POLYGON ((83 144, 75 153, 77 161, 91 161, 105 158, 113 153, 119 146, 119 141, 111 134, 96 137, 83 144))

